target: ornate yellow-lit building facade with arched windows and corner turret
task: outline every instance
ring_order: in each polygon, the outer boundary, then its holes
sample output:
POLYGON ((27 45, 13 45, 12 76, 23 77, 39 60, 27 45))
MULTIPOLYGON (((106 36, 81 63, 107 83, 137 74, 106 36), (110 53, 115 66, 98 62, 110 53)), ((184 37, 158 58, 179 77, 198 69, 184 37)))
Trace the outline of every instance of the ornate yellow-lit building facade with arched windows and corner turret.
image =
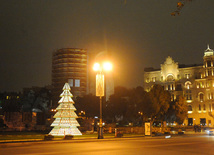
POLYGON ((144 69, 144 89, 160 84, 171 99, 186 98, 188 118, 185 125, 214 126, 214 51, 204 51, 203 64, 179 65, 167 57, 160 69, 144 69))

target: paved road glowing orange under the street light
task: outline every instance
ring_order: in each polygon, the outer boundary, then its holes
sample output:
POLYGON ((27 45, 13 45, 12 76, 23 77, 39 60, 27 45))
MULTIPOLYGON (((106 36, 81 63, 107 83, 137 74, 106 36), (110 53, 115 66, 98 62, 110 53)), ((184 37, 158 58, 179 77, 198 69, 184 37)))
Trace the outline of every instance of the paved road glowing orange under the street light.
POLYGON ((1 145, 0 155, 214 155, 214 136, 113 138, 1 145))

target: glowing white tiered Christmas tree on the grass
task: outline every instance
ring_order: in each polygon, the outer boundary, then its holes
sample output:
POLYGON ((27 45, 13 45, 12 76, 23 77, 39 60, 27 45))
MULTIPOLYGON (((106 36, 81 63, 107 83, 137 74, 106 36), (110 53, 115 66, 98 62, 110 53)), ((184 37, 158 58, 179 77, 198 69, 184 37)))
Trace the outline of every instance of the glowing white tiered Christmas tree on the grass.
POLYGON ((60 95, 59 106, 56 108, 57 113, 54 115, 54 122, 51 124, 54 128, 49 134, 53 136, 65 136, 65 135, 82 135, 77 128, 79 123, 76 118, 78 117, 74 111, 73 95, 70 92, 70 86, 65 83, 63 92, 60 95))

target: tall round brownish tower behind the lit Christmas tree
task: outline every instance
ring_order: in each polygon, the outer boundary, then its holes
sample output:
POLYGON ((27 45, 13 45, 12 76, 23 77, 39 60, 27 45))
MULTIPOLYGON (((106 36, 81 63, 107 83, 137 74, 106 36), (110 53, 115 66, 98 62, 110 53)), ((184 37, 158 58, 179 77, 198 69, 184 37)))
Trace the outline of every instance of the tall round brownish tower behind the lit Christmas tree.
POLYGON ((74 98, 87 93, 87 51, 62 48, 52 58, 52 101, 57 106, 61 89, 69 83, 74 98))

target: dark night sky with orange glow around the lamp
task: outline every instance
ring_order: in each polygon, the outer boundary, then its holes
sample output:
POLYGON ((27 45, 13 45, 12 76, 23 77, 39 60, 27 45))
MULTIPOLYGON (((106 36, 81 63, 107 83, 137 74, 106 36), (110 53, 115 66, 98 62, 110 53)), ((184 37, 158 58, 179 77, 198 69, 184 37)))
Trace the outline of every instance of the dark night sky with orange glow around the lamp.
MULTIPOLYGON (((0 0, 0 91, 51 84, 52 52, 111 53, 116 85, 143 84, 145 67, 167 56, 203 62, 214 48, 214 0, 194 0, 180 16, 177 0, 0 0)), ((89 70, 91 71, 91 70, 89 70)))

